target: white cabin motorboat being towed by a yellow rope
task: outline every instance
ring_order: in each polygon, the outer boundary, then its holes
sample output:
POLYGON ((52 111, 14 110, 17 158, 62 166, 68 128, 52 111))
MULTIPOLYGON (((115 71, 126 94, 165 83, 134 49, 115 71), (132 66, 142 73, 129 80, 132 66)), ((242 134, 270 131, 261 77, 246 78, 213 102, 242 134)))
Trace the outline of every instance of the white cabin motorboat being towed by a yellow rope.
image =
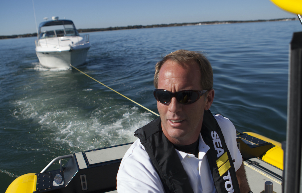
POLYGON ((47 68, 84 64, 91 47, 89 34, 80 36, 71 20, 59 20, 58 17, 40 23, 35 44, 40 64, 47 68))

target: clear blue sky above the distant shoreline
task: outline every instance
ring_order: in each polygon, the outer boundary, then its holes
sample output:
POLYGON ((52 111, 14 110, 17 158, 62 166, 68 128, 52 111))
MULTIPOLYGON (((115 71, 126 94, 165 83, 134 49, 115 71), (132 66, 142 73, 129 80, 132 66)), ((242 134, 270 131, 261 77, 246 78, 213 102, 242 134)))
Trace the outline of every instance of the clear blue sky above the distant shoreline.
MULTIPOLYGON (((269 0, 34 0, 37 25, 44 17, 71 19, 76 28, 297 17, 269 0)), ((0 35, 36 32, 32 0, 2 1, 0 35)))

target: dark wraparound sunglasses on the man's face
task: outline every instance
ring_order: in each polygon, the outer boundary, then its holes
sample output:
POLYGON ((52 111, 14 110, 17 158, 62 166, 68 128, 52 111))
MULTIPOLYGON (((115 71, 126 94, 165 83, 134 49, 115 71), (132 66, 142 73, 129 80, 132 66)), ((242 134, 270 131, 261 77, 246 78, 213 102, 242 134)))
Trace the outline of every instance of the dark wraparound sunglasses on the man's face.
POLYGON ((175 97, 179 103, 191 104, 196 102, 207 90, 182 90, 172 93, 164 89, 154 89, 153 95, 160 103, 169 103, 172 97, 175 97))

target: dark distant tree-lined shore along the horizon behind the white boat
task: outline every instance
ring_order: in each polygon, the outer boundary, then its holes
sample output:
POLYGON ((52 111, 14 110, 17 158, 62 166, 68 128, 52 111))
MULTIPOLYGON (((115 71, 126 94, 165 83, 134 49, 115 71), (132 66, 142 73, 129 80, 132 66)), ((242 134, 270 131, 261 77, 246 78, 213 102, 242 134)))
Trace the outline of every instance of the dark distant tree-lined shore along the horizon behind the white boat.
MULTIPOLYGON (((215 24, 250 23, 250 22, 265 22, 265 21, 291 21, 291 20, 297 20, 297 18, 281 18, 281 19, 270 19, 270 20, 248 20, 248 21, 205 21, 205 22, 195 22, 195 23, 174 23, 174 24, 157 24, 157 25, 128 25, 127 27, 78 29, 78 31, 79 31, 79 33, 81 33, 81 32, 112 31, 112 30, 123 30, 123 29, 161 28, 161 27, 188 26, 188 25, 215 25, 215 24)), ((0 36, 0 39, 25 38, 25 37, 33 37, 33 36, 37 36, 37 33, 0 36)))

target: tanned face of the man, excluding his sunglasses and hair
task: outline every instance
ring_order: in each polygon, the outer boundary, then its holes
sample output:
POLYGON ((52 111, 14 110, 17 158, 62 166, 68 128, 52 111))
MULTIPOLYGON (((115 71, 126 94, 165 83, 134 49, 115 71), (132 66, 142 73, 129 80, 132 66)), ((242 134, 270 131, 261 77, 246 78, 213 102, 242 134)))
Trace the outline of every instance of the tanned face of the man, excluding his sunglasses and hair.
MULTIPOLYGON (((196 62, 193 63, 184 68, 177 62, 166 61, 159 71, 157 88, 172 93, 181 90, 203 90, 200 84, 200 69, 196 62)), ((214 98, 214 90, 211 90, 210 95, 214 98)), ((189 145, 198 139, 204 110, 208 110, 213 101, 209 104, 208 99, 205 101, 204 97, 206 97, 205 94, 191 104, 181 104, 175 97, 169 103, 157 102, 162 131, 170 142, 189 145)))

